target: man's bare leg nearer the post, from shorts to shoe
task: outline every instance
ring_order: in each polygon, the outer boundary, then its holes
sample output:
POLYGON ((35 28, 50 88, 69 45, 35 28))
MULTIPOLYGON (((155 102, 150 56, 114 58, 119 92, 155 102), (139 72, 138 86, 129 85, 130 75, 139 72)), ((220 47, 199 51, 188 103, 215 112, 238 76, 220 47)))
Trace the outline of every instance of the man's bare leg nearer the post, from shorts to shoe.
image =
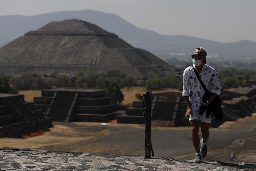
POLYGON ((200 139, 198 135, 198 120, 190 120, 190 125, 191 125, 191 131, 192 131, 192 142, 194 145, 194 148, 197 153, 200 153, 199 145, 200 145, 200 139))

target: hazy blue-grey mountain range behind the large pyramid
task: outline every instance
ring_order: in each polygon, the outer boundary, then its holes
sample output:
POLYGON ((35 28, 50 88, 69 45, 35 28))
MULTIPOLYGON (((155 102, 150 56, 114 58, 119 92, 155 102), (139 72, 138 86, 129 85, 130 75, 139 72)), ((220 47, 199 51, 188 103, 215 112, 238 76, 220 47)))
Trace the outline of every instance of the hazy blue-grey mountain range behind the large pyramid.
POLYGON ((220 43, 183 35, 160 35, 140 29, 115 14, 93 10, 60 11, 35 16, 0 16, 0 47, 26 32, 39 29, 50 21, 72 18, 94 23, 108 32, 115 33, 134 47, 148 50, 160 58, 165 58, 169 53, 191 53, 197 46, 205 47, 209 54, 226 57, 249 56, 253 59, 256 57, 256 43, 252 41, 220 43))

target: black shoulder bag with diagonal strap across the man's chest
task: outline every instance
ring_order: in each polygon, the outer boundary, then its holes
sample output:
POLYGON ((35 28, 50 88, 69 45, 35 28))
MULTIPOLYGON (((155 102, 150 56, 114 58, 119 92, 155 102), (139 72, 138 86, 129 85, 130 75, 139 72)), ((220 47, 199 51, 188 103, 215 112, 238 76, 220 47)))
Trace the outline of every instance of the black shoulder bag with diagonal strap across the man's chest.
MULTIPOLYGON (((193 70, 199 80, 199 82, 201 83, 201 85, 204 88, 204 96, 203 96, 203 103, 207 103, 207 101, 210 99, 210 97, 212 96, 212 92, 208 91, 203 83, 203 81, 201 80, 198 71, 194 68, 193 66, 193 70)), ((209 115, 211 115, 211 113, 214 114, 215 120, 220 120, 222 119, 222 108, 221 108, 221 100, 220 97, 217 96, 213 99, 213 101, 208 104, 208 106, 204 106, 203 104, 201 104, 200 106, 200 110, 199 110, 199 115, 203 115, 204 111, 206 110, 206 117, 205 118, 209 118, 209 115)))

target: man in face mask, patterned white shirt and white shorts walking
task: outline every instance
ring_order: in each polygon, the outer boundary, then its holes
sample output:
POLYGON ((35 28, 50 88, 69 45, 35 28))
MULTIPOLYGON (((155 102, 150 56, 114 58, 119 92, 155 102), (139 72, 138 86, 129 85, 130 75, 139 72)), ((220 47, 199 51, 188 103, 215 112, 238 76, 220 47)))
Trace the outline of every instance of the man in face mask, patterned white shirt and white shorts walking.
POLYGON ((183 73, 183 91, 187 111, 185 114, 186 119, 189 120, 192 131, 192 142, 196 150, 196 157, 193 159, 194 163, 200 163, 202 157, 207 154, 206 141, 209 138, 209 126, 211 123, 211 115, 207 118, 206 110, 202 115, 199 115, 199 109, 201 104, 208 106, 217 95, 220 95, 220 81, 217 72, 214 68, 206 64, 206 51, 204 48, 199 47, 191 55, 193 65, 187 67, 183 73), (195 68, 196 70, 194 70, 195 68), (212 95, 207 102, 202 102, 205 90, 202 84, 199 82, 195 72, 198 72, 202 82, 206 89, 211 91, 212 95), (202 139, 200 140, 198 135, 199 118, 201 121, 202 139), (201 144, 201 148, 200 148, 201 144))

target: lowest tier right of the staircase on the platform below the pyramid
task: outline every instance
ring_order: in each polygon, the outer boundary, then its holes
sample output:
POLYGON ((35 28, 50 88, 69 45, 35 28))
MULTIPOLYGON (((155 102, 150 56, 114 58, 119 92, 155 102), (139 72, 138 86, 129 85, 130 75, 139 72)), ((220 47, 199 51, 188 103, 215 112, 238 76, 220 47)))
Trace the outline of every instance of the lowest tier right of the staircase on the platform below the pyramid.
POLYGON ((115 113, 107 113, 107 114, 76 114, 76 121, 87 121, 87 122, 108 122, 108 120, 115 119, 115 113))

